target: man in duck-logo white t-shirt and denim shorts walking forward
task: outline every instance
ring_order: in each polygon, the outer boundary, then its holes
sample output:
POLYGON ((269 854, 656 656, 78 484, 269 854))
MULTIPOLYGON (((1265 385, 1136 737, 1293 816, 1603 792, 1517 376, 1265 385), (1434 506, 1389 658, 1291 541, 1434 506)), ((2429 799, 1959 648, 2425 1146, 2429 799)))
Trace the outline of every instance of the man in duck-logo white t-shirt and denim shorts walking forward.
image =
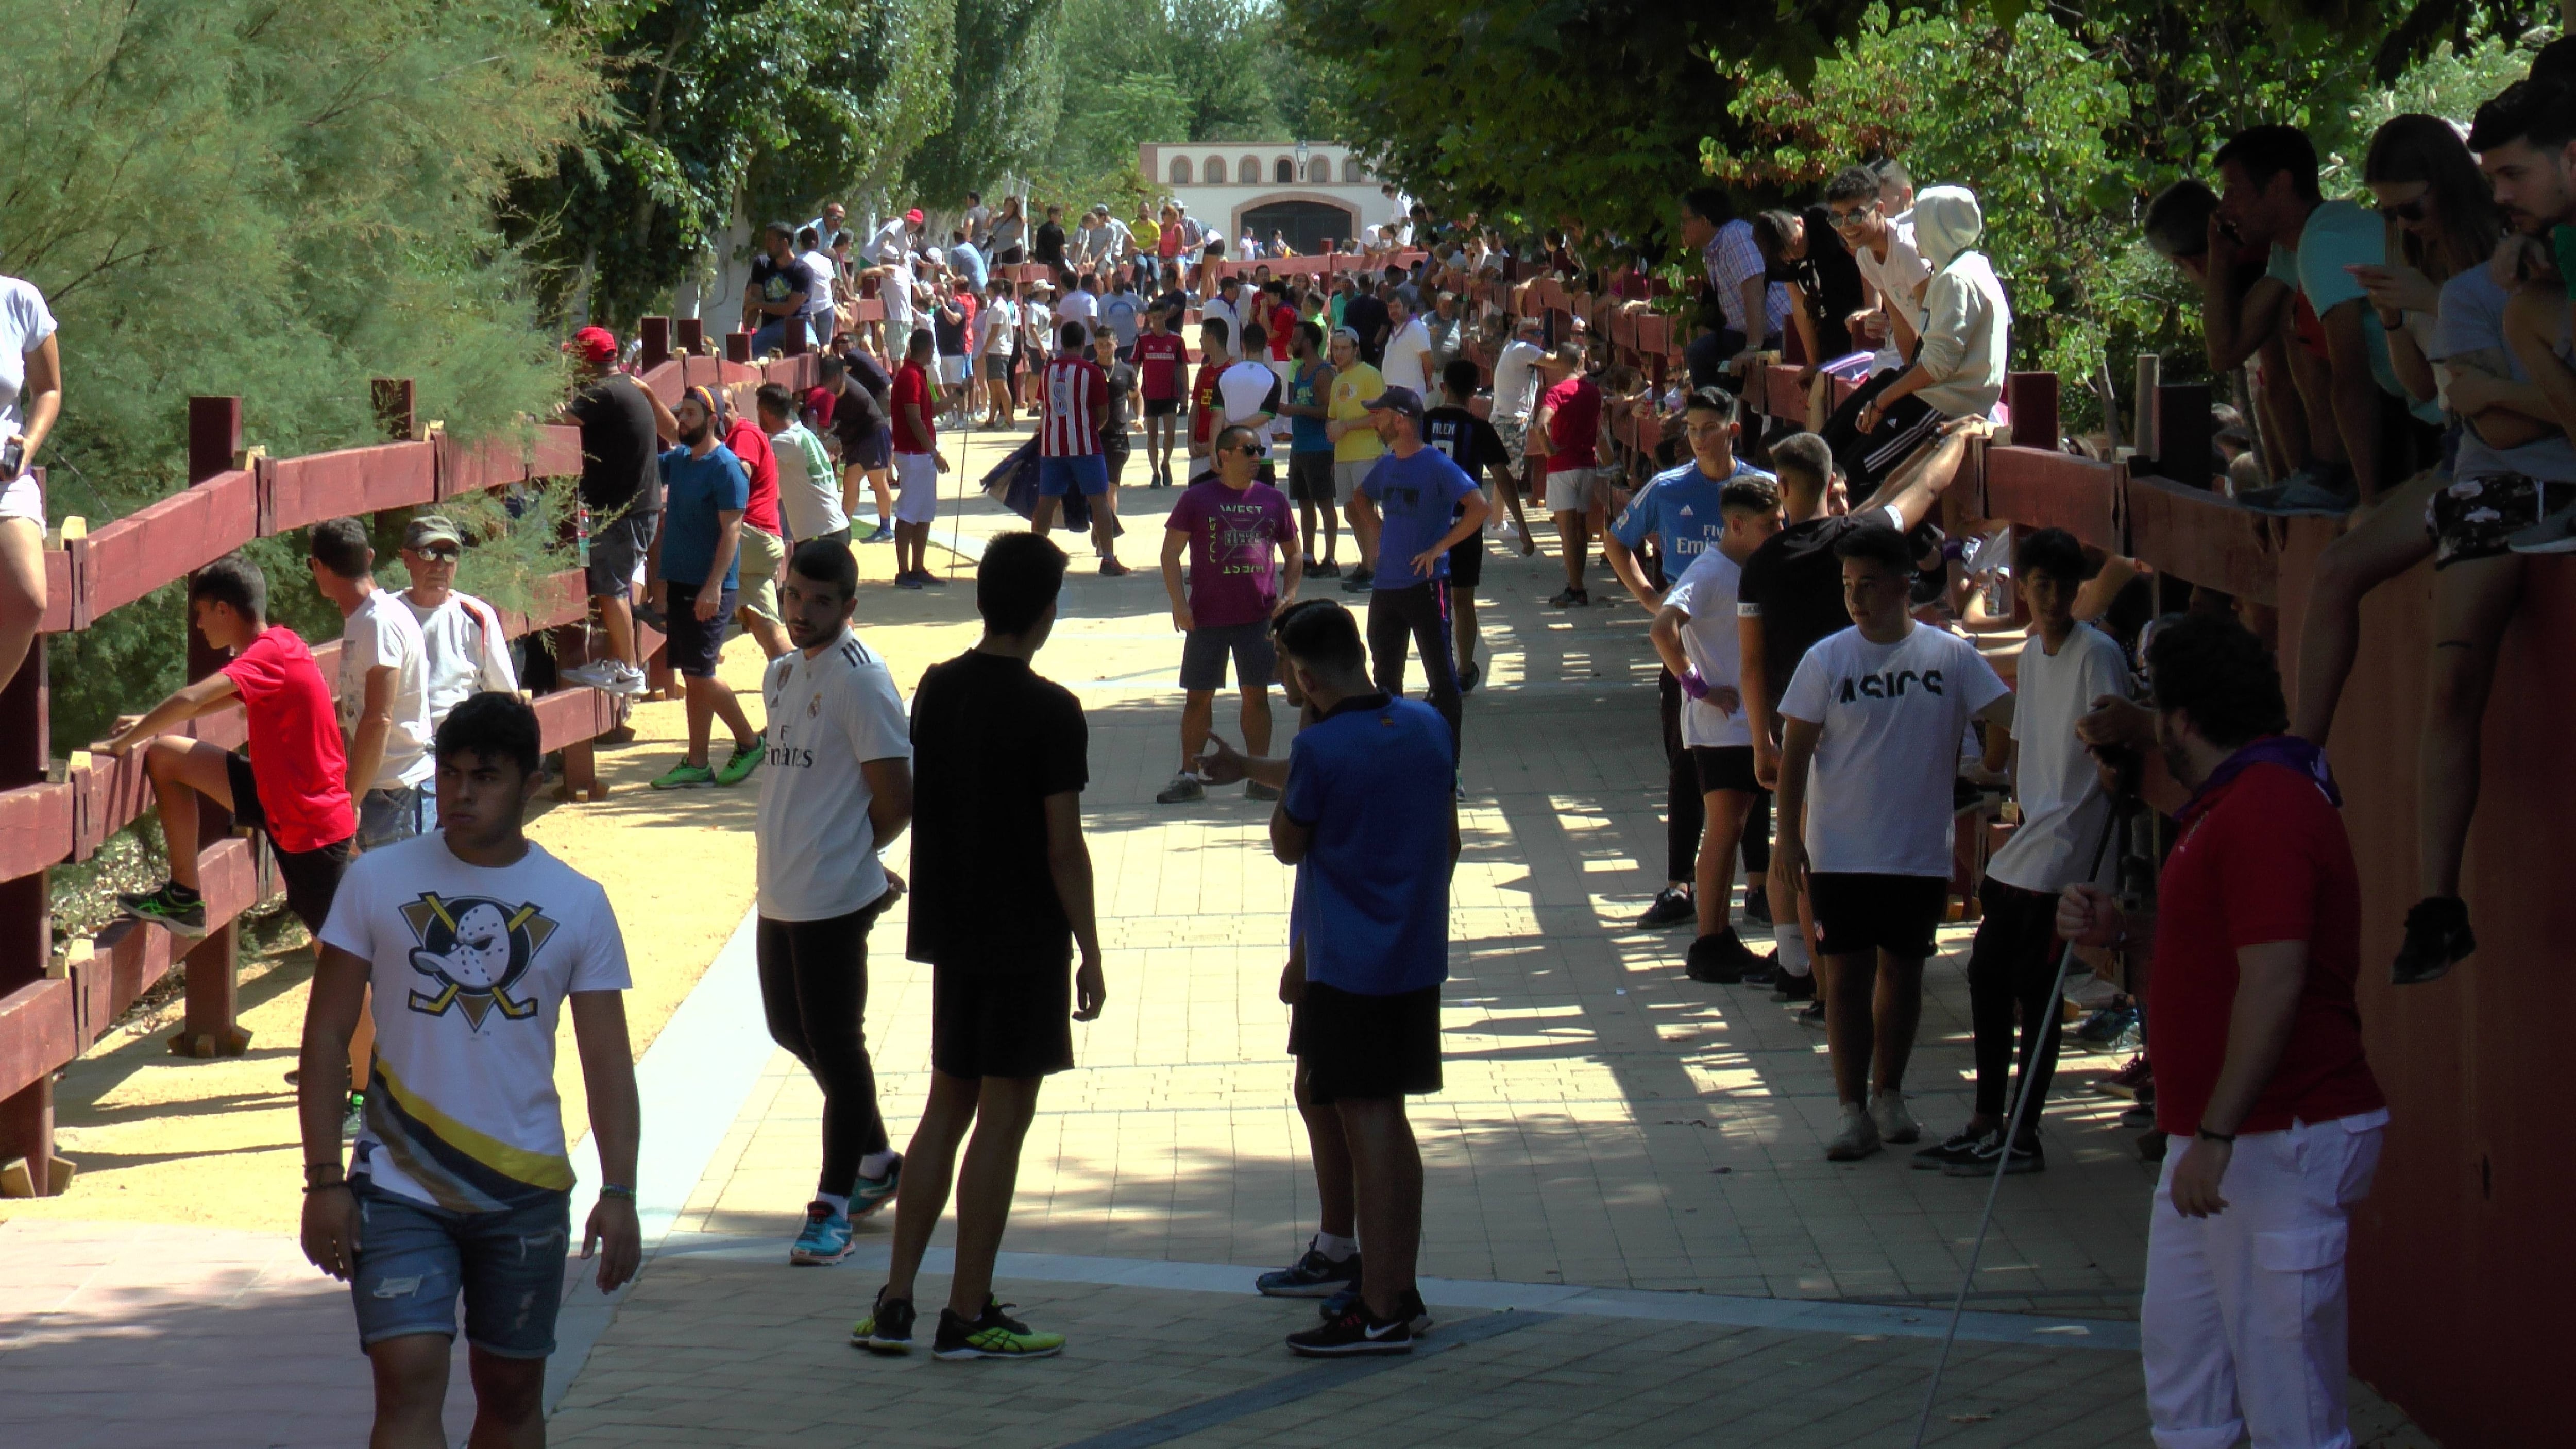
POLYGON ((376 1449, 451 1444, 440 1423, 456 1302, 474 1364, 474 1444, 544 1444, 546 1354, 564 1300, 572 1158, 554 1035, 572 1040, 600 1145, 600 1292, 636 1271, 636 1109, 626 942, 595 880, 520 834, 536 710, 484 692, 438 726, 438 831, 361 854, 322 921, 304 1014, 304 1256, 348 1279, 374 1361, 376 1449), (340 1166, 348 1042, 376 991, 374 1086, 340 1166))

